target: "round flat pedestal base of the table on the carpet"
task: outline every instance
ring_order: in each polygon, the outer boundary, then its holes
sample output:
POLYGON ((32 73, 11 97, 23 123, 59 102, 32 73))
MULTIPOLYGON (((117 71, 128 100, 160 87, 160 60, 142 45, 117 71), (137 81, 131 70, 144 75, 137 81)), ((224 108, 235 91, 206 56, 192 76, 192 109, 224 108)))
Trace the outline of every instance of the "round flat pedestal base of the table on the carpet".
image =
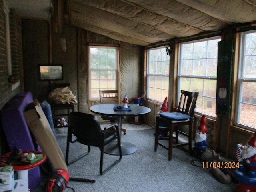
MULTIPOLYGON (((121 142, 121 148, 122 148, 122 155, 129 155, 132 153, 135 153, 138 148, 128 142, 121 142)), ((109 154, 109 155, 119 155, 119 150, 118 150, 118 144, 117 142, 112 142, 106 148, 104 149, 104 153, 109 154)))

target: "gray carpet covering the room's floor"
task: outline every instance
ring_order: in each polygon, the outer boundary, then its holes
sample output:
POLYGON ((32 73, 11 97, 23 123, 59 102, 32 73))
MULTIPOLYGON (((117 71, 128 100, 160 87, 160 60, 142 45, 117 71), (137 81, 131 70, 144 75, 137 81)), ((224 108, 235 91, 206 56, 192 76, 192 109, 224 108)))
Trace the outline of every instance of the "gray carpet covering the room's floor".
MULTIPOLYGON (((127 134, 122 141, 138 147, 134 154, 123 156, 120 163, 100 175, 100 150, 92 147, 89 155, 68 166, 70 177, 96 180, 95 183, 70 181, 76 192, 234 192, 236 185, 222 184, 210 171, 191 164, 192 157, 185 150, 174 148, 172 161, 168 151, 160 146, 154 151, 154 129, 142 125, 123 124, 127 134)), ((65 156, 67 129, 56 130, 56 138, 65 156)), ((75 143, 70 147, 70 160, 86 146, 75 143)), ((104 166, 118 156, 104 155, 104 166)), ((199 164, 199 163, 198 163, 199 164)), ((200 164, 199 164, 200 165, 200 164)), ((38 192, 40 190, 32 190, 38 192)), ((65 192, 72 192, 66 188, 65 192)))

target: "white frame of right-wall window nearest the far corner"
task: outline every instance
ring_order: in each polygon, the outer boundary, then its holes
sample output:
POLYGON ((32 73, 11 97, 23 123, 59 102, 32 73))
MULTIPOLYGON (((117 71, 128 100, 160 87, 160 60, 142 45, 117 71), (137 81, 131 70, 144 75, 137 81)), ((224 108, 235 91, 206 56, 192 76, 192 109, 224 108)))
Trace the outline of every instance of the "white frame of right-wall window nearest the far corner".
MULTIPOLYGON (((155 73, 149 73, 149 57, 150 57, 150 54, 149 54, 149 52, 150 52, 150 50, 156 50, 156 49, 163 49, 163 50, 165 50, 166 49, 166 47, 165 46, 160 46, 160 47, 156 47, 156 48, 150 48, 150 49, 148 49, 147 50, 147 57, 146 57, 146 90, 147 90, 147 94, 146 94, 146 99, 147 100, 150 100, 150 101, 152 101, 152 102, 156 102, 156 103, 162 103, 163 102, 163 100, 156 100, 156 99, 153 99, 153 98, 149 98, 148 97, 148 93, 149 93, 149 91, 148 91, 148 88, 149 88, 149 78, 150 78, 150 76, 160 76, 160 77, 168 77, 168 89, 166 89, 166 91, 168 91, 168 94, 166 95, 167 97, 169 97, 169 87, 170 87, 170 56, 169 56, 169 71, 168 71, 168 75, 167 74, 155 74, 155 73)), ((164 53, 164 54, 166 54, 166 53, 164 53)), ((165 90, 165 89, 161 89, 161 90, 165 90)))

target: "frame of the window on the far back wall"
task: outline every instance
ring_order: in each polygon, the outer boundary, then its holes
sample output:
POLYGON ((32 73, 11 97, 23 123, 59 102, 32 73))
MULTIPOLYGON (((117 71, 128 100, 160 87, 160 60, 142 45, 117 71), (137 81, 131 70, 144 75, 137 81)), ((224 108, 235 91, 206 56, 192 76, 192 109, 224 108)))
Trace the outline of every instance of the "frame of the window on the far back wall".
MULTIPOLYGON (((118 90, 118 66, 119 66, 119 49, 117 46, 97 46, 97 45, 89 45, 88 46, 88 83, 89 83, 89 100, 93 101, 93 100, 99 100, 100 99, 100 95, 98 95, 98 97, 92 97, 92 83, 91 83, 91 68, 90 68, 90 48, 106 48, 106 49, 115 49, 116 50, 116 64, 115 64, 115 69, 111 70, 111 71, 115 71, 116 73, 116 83, 115 83, 115 90, 118 90)), ((100 69, 93 69, 93 70, 108 70, 108 69, 104 69, 104 68, 100 68, 100 69)), ((113 90, 111 89, 102 89, 102 90, 113 90)))

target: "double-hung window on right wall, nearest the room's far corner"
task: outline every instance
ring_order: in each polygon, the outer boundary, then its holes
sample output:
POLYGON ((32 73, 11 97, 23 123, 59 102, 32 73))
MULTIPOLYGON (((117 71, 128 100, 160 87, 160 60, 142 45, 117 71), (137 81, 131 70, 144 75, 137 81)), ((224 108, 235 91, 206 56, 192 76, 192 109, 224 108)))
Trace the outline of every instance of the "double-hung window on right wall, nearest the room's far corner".
POLYGON ((169 95, 170 56, 165 48, 148 50, 147 98, 163 102, 169 95))

